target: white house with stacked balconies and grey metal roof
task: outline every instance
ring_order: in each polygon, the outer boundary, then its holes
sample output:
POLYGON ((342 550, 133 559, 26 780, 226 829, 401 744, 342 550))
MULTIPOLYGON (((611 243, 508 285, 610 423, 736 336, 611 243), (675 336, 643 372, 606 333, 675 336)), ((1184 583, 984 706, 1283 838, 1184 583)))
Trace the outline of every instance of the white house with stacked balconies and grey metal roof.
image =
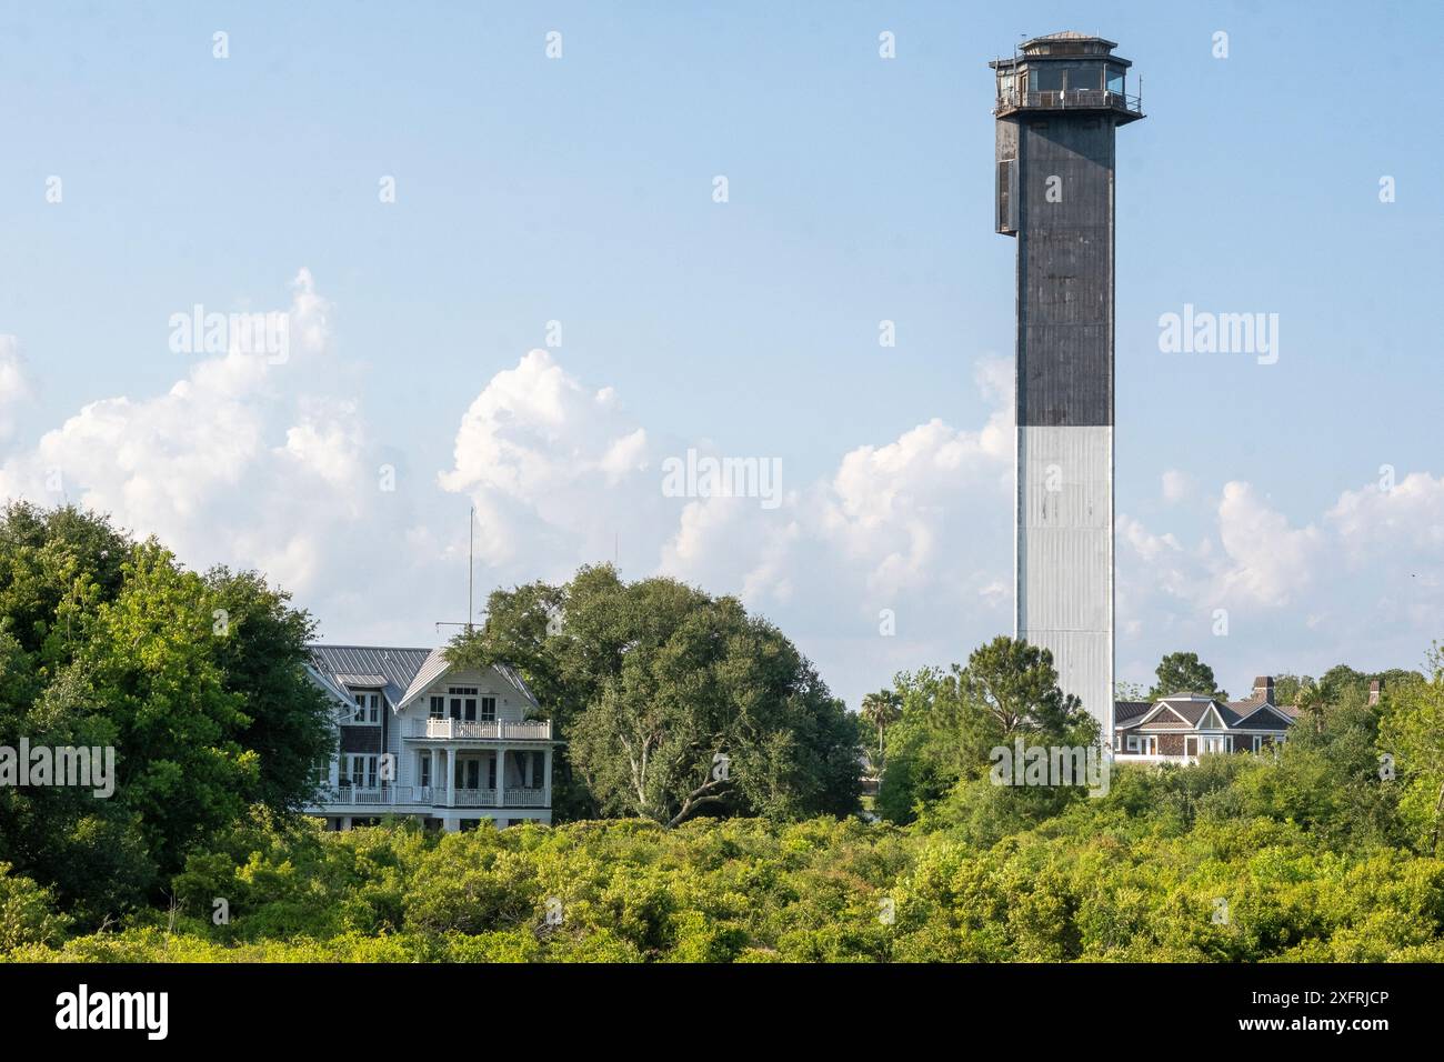
POLYGON ((305 811, 329 829, 410 815, 440 829, 552 821, 549 720, 513 668, 458 669, 440 649, 310 646, 336 707, 336 756, 305 811))

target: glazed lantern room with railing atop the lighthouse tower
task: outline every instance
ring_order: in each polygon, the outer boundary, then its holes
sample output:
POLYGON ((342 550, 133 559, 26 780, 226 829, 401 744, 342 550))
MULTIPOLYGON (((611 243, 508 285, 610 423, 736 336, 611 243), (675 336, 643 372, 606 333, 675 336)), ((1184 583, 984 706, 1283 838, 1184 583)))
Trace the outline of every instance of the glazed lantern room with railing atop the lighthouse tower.
POLYGON ((1129 84, 1132 64, 1113 55, 1113 40, 1086 33, 1048 33, 1018 45, 1011 59, 988 65, 998 74, 999 118, 1035 111, 1108 113, 1122 126, 1144 117, 1142 98, 1129 84))

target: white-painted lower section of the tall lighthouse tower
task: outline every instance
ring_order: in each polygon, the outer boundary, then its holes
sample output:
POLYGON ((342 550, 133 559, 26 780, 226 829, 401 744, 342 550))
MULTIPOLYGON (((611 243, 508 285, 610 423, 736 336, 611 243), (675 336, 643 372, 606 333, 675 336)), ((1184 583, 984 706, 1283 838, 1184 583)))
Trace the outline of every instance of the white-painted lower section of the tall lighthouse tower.
POLYGON ((1017 636, 1113 730, 1113 429, 1019 428, 1017 636))

